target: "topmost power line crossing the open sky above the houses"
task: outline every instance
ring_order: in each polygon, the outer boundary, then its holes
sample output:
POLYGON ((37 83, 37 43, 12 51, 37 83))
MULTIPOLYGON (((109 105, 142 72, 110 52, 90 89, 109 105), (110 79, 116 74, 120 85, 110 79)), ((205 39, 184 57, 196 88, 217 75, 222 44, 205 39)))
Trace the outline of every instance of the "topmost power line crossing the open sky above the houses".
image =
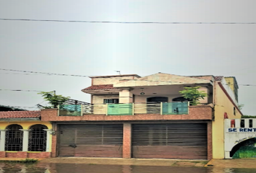
POLYGON ((54 20, 54 19, 0 19, 28 22, 73 22, 73 23, 114 23, 114 24, 201 24, 201 25, 255 25, 256 22, 121 22, 121 21, 88 21, 88 20, 54 20))

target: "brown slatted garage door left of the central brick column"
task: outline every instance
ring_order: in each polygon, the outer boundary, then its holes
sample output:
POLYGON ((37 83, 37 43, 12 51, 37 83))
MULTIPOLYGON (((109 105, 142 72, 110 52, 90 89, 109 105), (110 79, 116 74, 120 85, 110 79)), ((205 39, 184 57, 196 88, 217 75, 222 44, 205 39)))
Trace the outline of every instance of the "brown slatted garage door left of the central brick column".
POLYGON ((59 156, 122 157, 123 125, 60 125, 59 156))

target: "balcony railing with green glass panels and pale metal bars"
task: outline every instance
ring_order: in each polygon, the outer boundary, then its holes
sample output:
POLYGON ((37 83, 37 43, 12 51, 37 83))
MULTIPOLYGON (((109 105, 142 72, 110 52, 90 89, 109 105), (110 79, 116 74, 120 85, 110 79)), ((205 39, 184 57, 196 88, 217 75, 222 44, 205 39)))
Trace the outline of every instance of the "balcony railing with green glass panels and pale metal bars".
POLYGON ((82 115, 187 115, 188 102, 59 105, 59 116, 82 115))

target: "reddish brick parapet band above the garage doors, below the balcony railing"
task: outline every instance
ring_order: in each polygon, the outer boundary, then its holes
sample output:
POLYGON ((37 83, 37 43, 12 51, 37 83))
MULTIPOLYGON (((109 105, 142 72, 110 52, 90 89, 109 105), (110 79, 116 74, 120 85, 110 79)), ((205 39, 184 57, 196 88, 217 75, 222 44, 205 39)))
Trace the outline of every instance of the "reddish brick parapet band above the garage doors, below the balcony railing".
POLYGON ((210 106, 190 106, 188 115, 83 115, 83 116, 58 116, 57 109, 41 110, 43 121, 124 121, 124 120, 212 120, 210 106))

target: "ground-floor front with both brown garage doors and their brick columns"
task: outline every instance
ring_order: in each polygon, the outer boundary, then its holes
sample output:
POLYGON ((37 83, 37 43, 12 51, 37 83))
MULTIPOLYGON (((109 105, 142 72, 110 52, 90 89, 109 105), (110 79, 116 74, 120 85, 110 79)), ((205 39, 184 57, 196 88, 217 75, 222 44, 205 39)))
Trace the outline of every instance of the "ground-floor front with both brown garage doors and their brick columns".
POLYGON ((210 120, 54 122, 51 156, 212 159, 210 120))

